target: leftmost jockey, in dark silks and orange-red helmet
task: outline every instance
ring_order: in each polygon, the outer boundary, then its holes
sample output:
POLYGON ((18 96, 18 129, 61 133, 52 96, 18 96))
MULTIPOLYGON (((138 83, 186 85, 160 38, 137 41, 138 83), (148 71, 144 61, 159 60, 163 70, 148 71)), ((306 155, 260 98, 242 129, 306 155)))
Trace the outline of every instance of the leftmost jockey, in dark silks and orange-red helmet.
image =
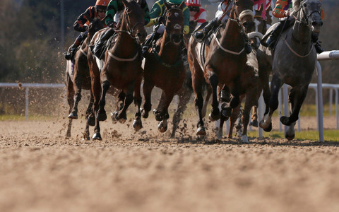
POLYGON ((76 22, 73 24, 74 30, 81 32, 78 37, 76 37, 76 41, 69 47, 69 50, 64 53, 65 59, 69 60, 73 57, 76 48, 85 40, 88 34, 88 24, 94 18, 100 18, 103 20, 105 18, 105 13, 107 9, 109 0, 97 0, 95 6, 90 6, 86 9, 84 13, 82 13, 76 22))

